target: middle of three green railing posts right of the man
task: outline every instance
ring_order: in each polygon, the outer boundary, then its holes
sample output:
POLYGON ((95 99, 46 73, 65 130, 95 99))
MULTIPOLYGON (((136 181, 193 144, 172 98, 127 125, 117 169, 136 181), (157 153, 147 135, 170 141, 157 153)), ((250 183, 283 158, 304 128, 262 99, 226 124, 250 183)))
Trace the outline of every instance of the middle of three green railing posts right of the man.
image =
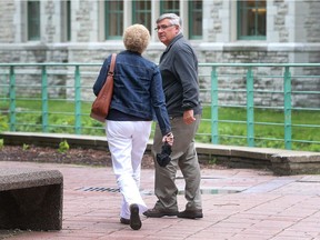
POLYGON ((247 72, 247 142, 249 147, 254 147, 254 109, 253 109, 253 73, 248 67, 247 72))

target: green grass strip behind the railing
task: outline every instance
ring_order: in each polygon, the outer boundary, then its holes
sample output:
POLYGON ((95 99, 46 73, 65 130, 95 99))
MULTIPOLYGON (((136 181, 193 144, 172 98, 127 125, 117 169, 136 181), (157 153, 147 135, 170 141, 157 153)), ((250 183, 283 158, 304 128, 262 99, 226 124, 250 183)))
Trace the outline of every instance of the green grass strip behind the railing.
MULTIPOLYGON (((42 107, 40 100, 19 100, 16 108, 21 111, 16 116, 16 131, 42 132, 42 107)), ((81 134, 104 136, 103 124, 89 117, 90 108, 91 103, 81 103, 81 134)), ((0 131, 10 130, 9 117, 2 113, 6 109, 9 109, 8 102, 0 102, 0 131)), ((198 142, 211 142, 210 117, 210 107, 204 107, 202 121, 196 137, 198 142)), ((254 146, 284 149, 283 119, 282 111, 254 109, 254 146)), ((320 111, 292 111, 293 150, 320 151, 320 134, 317 133, 320 130, 319 119, 320 111), (319 127, 307 127, 308 124, 319 127)), ((246 109, 220 108, 218 123, 219 144, 248 146, 246 120, 246 109), (223 122, 226 120, 236 122, 223 122)), ((74 133, 74 102, 50 100, 48 102, 48 132, 74 133)))

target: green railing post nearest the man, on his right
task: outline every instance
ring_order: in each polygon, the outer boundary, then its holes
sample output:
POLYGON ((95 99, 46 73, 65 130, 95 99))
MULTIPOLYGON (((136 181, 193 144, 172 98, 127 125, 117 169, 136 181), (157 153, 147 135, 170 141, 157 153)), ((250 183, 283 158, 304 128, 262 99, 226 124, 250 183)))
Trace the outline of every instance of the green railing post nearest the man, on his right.
POLYGON ((211 142, 219 144, 218 132, 218 73, 217 68, 211 71, 211 142))

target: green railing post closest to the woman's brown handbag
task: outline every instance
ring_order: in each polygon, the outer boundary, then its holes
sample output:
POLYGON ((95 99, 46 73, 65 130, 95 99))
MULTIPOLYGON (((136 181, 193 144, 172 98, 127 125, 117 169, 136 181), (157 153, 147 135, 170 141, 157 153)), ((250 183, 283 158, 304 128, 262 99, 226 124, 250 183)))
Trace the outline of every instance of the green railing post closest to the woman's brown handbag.
POLYGON ((76 66, 74 72, 74 131, 76 134, 81 134, 81 77, 79 66, 76 66))

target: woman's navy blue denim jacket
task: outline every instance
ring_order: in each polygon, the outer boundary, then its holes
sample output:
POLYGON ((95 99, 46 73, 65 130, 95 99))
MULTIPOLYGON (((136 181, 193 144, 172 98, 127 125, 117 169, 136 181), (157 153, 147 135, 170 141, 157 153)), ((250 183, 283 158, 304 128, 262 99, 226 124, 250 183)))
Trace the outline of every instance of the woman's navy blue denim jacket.
MULTIPOLYGON (((93 84, 96 96, 104 84, 110 63, 111 56, 104 60, 93 84)), ((156 63, 138 52, 122 51, 117 54, 113 79, 110 111, 113 109, 144 120, 156 120, 156 114, 162 134, 171 132, 162 79, 156 63)), ((107 119, 109 119, 108 117, 107 119)))

